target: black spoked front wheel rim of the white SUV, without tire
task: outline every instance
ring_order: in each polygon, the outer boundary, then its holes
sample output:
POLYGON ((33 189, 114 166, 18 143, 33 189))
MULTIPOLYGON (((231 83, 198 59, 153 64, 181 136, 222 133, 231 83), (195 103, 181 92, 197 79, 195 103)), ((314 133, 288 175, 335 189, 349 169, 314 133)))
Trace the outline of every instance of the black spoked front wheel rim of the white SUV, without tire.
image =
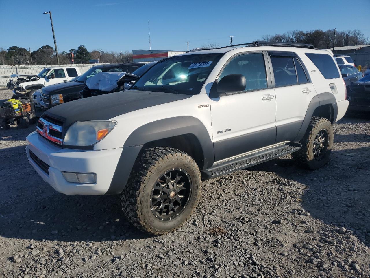
POLYGON ((191 178, 184 169, 164 172, 152 188, 150 206, 155 217, 168 221, 179 216, 190 200, 191 190, 191 178))

